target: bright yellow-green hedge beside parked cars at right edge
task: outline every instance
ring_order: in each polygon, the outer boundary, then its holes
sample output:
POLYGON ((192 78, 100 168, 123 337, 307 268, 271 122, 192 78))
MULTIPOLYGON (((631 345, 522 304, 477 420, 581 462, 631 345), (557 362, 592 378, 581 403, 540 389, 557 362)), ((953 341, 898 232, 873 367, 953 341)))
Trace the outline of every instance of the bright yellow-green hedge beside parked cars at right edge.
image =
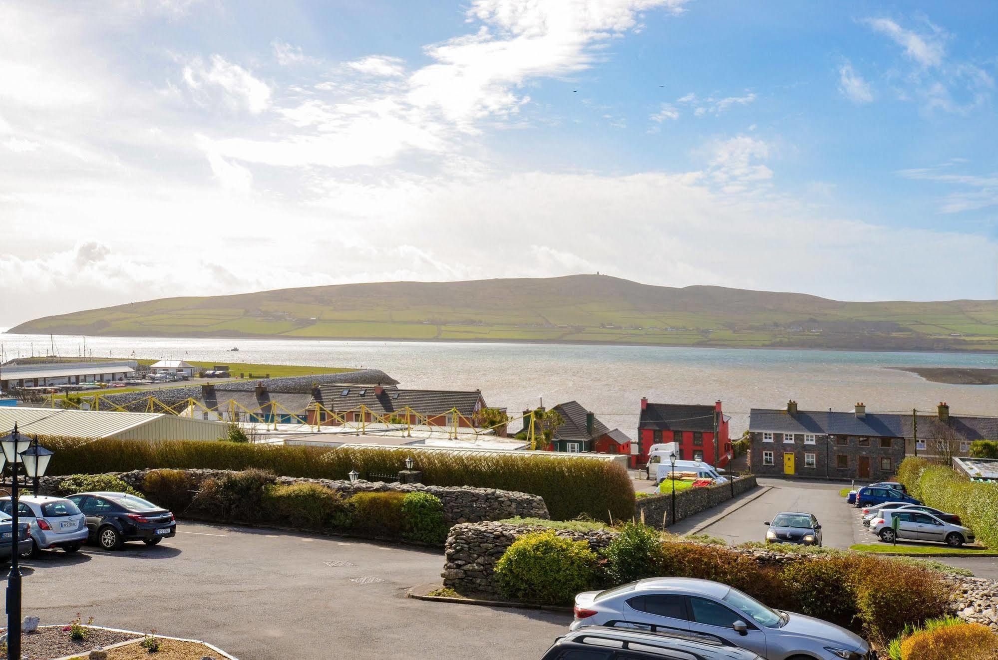
POLYGON ((988 547, 998 547, 998 484, 971 482, 946 466, 911 457, 897 478, 929 506, 956 513, 988 547))

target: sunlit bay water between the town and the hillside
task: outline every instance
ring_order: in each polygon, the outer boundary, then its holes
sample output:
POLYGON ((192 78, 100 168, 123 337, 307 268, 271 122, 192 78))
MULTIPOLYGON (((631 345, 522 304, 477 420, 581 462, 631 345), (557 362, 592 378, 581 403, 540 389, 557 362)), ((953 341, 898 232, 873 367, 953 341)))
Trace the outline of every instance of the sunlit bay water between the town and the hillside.
MULTIPOLYGON (((79 355, 83 338, 55 336, 59 355, 79 355)), ((4 356, 49 354, 49 338, 0 334, 4 356)), ((885 367, 998 367, 998 356, 965 353, 750 350, 664 346, 356 342, 282 339, 87 337, 88 354, 382 369, 413 388, 480 389, 510 413, 577 400, 611 427, 634 436, 641 397, 668 403, 724 402, 732 431, 749 408, 869 411, 934 409, 998 415, 998 386, 930 383, 885 367), (239 353, 228 349, 239 347, 239 353)))

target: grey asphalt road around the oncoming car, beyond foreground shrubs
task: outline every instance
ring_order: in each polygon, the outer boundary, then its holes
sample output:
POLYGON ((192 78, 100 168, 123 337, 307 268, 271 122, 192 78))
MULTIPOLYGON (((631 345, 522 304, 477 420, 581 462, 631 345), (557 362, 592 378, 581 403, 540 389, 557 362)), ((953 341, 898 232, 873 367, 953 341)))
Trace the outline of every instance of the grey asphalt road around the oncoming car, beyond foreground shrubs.
MULTIPOLYGON (((724 538, 731 544, 765 540, 765 525, 778 511, 813 513, 821 523, 825 547, 848 548, 855 543, 877 543, 877 538, 862 524, 855 506, 838 495, 841 484, 827 482, 760 479, 759 488, 739 495, 721 506, 680 520, 671 526, 676 533, 705 533, 724 538)), ((934 546, 941 543, 912 543, 934 546)), ((967 568, 980 577, 998 579, 998 557, 932 557, 953 566, 967 568)))

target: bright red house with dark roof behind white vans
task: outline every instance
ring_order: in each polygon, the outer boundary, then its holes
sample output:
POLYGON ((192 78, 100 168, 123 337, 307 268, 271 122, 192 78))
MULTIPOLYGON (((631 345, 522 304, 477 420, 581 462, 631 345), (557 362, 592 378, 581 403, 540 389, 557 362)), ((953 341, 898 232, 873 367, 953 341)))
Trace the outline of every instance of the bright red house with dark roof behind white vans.
POLYGON ((713 406, 653 404, 643 397, 638 422, 639 452, 632 457, 632 466, 648 463, 652 445, 679 443, 680 461, 703 461, 724 468, 732 460, 732 442, 728 437, 730 421, 722 411, 721 401, 713 406), (715 448, 720 456, 715 454, 715 448))

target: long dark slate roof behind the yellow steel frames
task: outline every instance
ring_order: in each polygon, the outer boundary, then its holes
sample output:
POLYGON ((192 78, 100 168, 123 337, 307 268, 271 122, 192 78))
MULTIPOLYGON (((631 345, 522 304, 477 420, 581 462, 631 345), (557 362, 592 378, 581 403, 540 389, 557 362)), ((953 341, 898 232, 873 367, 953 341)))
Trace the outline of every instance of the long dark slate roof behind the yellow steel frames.
MULTIPOLYGON (((394 413, 409 407, 423 415, 440 415, 457 409, 464 417, 475 414, 479 401, 481 408, 485 407, 482 393, 479 390, 402 390, 385 388, 381 394, 374 394, 373 385, 357 385, 343 383, 323 385, 319 388, 319 401, 322 407, 331 411, 344 411, 366 406, 371 411, 384 415, 394 413), (345 394, 344 394, 345 393, 345 394)), ((312 399, 308 408, 315 407, 312 399)))

